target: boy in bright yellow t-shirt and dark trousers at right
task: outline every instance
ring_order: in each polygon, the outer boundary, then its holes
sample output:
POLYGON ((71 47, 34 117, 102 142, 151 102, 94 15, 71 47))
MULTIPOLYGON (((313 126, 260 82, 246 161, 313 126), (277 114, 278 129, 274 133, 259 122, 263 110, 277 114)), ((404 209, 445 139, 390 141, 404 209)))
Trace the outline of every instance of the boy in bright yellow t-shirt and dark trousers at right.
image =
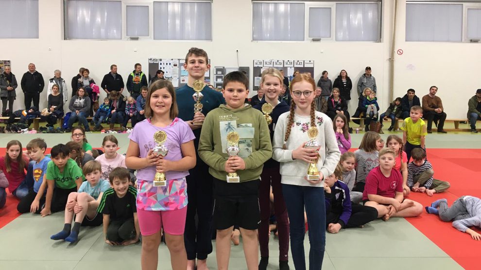
POLYGON ((402 141, 404 143, 404 152, 406 152, 408 163, 411 159, 411 151, 414 148, 422 148, 426 151, 426 123, 423 119, 423 108, 421 106, 412 106, 409 117, 404 119, 401 130, 402 141))

